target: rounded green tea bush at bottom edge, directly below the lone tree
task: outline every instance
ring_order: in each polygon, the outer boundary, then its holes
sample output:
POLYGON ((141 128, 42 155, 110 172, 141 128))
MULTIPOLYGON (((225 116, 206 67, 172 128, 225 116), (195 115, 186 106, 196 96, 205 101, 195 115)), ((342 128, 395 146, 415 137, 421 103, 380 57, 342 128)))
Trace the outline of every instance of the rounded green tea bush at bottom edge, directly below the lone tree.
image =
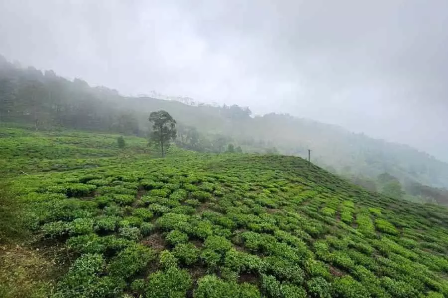
POLYGON ((146 297, 185 298, 191 285, 192 280, 186 270, 170 267, 165 271, 158 271, 149 276, 146 297))

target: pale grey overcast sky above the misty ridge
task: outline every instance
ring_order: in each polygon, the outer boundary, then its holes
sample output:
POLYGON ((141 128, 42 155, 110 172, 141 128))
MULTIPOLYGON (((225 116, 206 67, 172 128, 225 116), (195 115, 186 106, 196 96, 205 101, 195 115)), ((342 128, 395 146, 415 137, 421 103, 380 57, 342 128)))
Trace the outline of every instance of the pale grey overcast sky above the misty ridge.
POLYGON ((448 160, 447 0, 0 0, 0 54, 121 94, 287 112, 448 160))

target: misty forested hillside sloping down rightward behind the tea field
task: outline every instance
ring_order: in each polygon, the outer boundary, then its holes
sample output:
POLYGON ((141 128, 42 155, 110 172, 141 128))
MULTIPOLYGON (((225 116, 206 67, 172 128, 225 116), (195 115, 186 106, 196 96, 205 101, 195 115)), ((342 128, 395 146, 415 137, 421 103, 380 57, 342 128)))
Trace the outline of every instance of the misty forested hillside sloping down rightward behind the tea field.
POLYGON ((144 136, 149 113, 164 109, 177 120, 179 132, 199 132, 194 145, 184 144, 190 149, 220 152, 233 143, 246 152, 279 151, 304 157, 311 148, 316 164, 346 176, 375 180, 387 172, 405 187, 414 182, 448 187, 448 164, 409 146, 290 115, 253 117, 248 108, 237 105, 123 97, 116 90, 90 87, 81 79, 69 81, 52 71, 42 74, 32 67, 19 68, 2 57, 0 99, 0 122, 26 123, 36 130, 63 128, 144 136))

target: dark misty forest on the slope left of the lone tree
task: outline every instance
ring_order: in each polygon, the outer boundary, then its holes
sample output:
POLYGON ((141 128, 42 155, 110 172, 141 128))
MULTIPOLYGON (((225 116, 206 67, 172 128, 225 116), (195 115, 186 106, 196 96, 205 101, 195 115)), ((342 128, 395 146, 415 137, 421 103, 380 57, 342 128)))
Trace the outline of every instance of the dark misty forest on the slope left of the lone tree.
POLYGON ((106 87, 69 81, 53 71, 16 68, 0 56, 0 121, 42 127, 65 127, 139 134, 131 111, 112 103, 120 97, 106 87))

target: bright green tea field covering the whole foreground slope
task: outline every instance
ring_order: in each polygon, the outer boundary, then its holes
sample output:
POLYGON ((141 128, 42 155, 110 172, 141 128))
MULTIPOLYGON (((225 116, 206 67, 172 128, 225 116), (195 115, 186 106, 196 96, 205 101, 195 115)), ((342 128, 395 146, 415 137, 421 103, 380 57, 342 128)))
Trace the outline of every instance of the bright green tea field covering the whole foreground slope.
POLYGON ((1 129, 4 188, 46 265, 15 270, 7 248, 0 296, 18 297, 27 276, 20 297, 448 297, 446 208, 297 157, 155 158, 144 139, 120 150, 116 137, 1 129))

